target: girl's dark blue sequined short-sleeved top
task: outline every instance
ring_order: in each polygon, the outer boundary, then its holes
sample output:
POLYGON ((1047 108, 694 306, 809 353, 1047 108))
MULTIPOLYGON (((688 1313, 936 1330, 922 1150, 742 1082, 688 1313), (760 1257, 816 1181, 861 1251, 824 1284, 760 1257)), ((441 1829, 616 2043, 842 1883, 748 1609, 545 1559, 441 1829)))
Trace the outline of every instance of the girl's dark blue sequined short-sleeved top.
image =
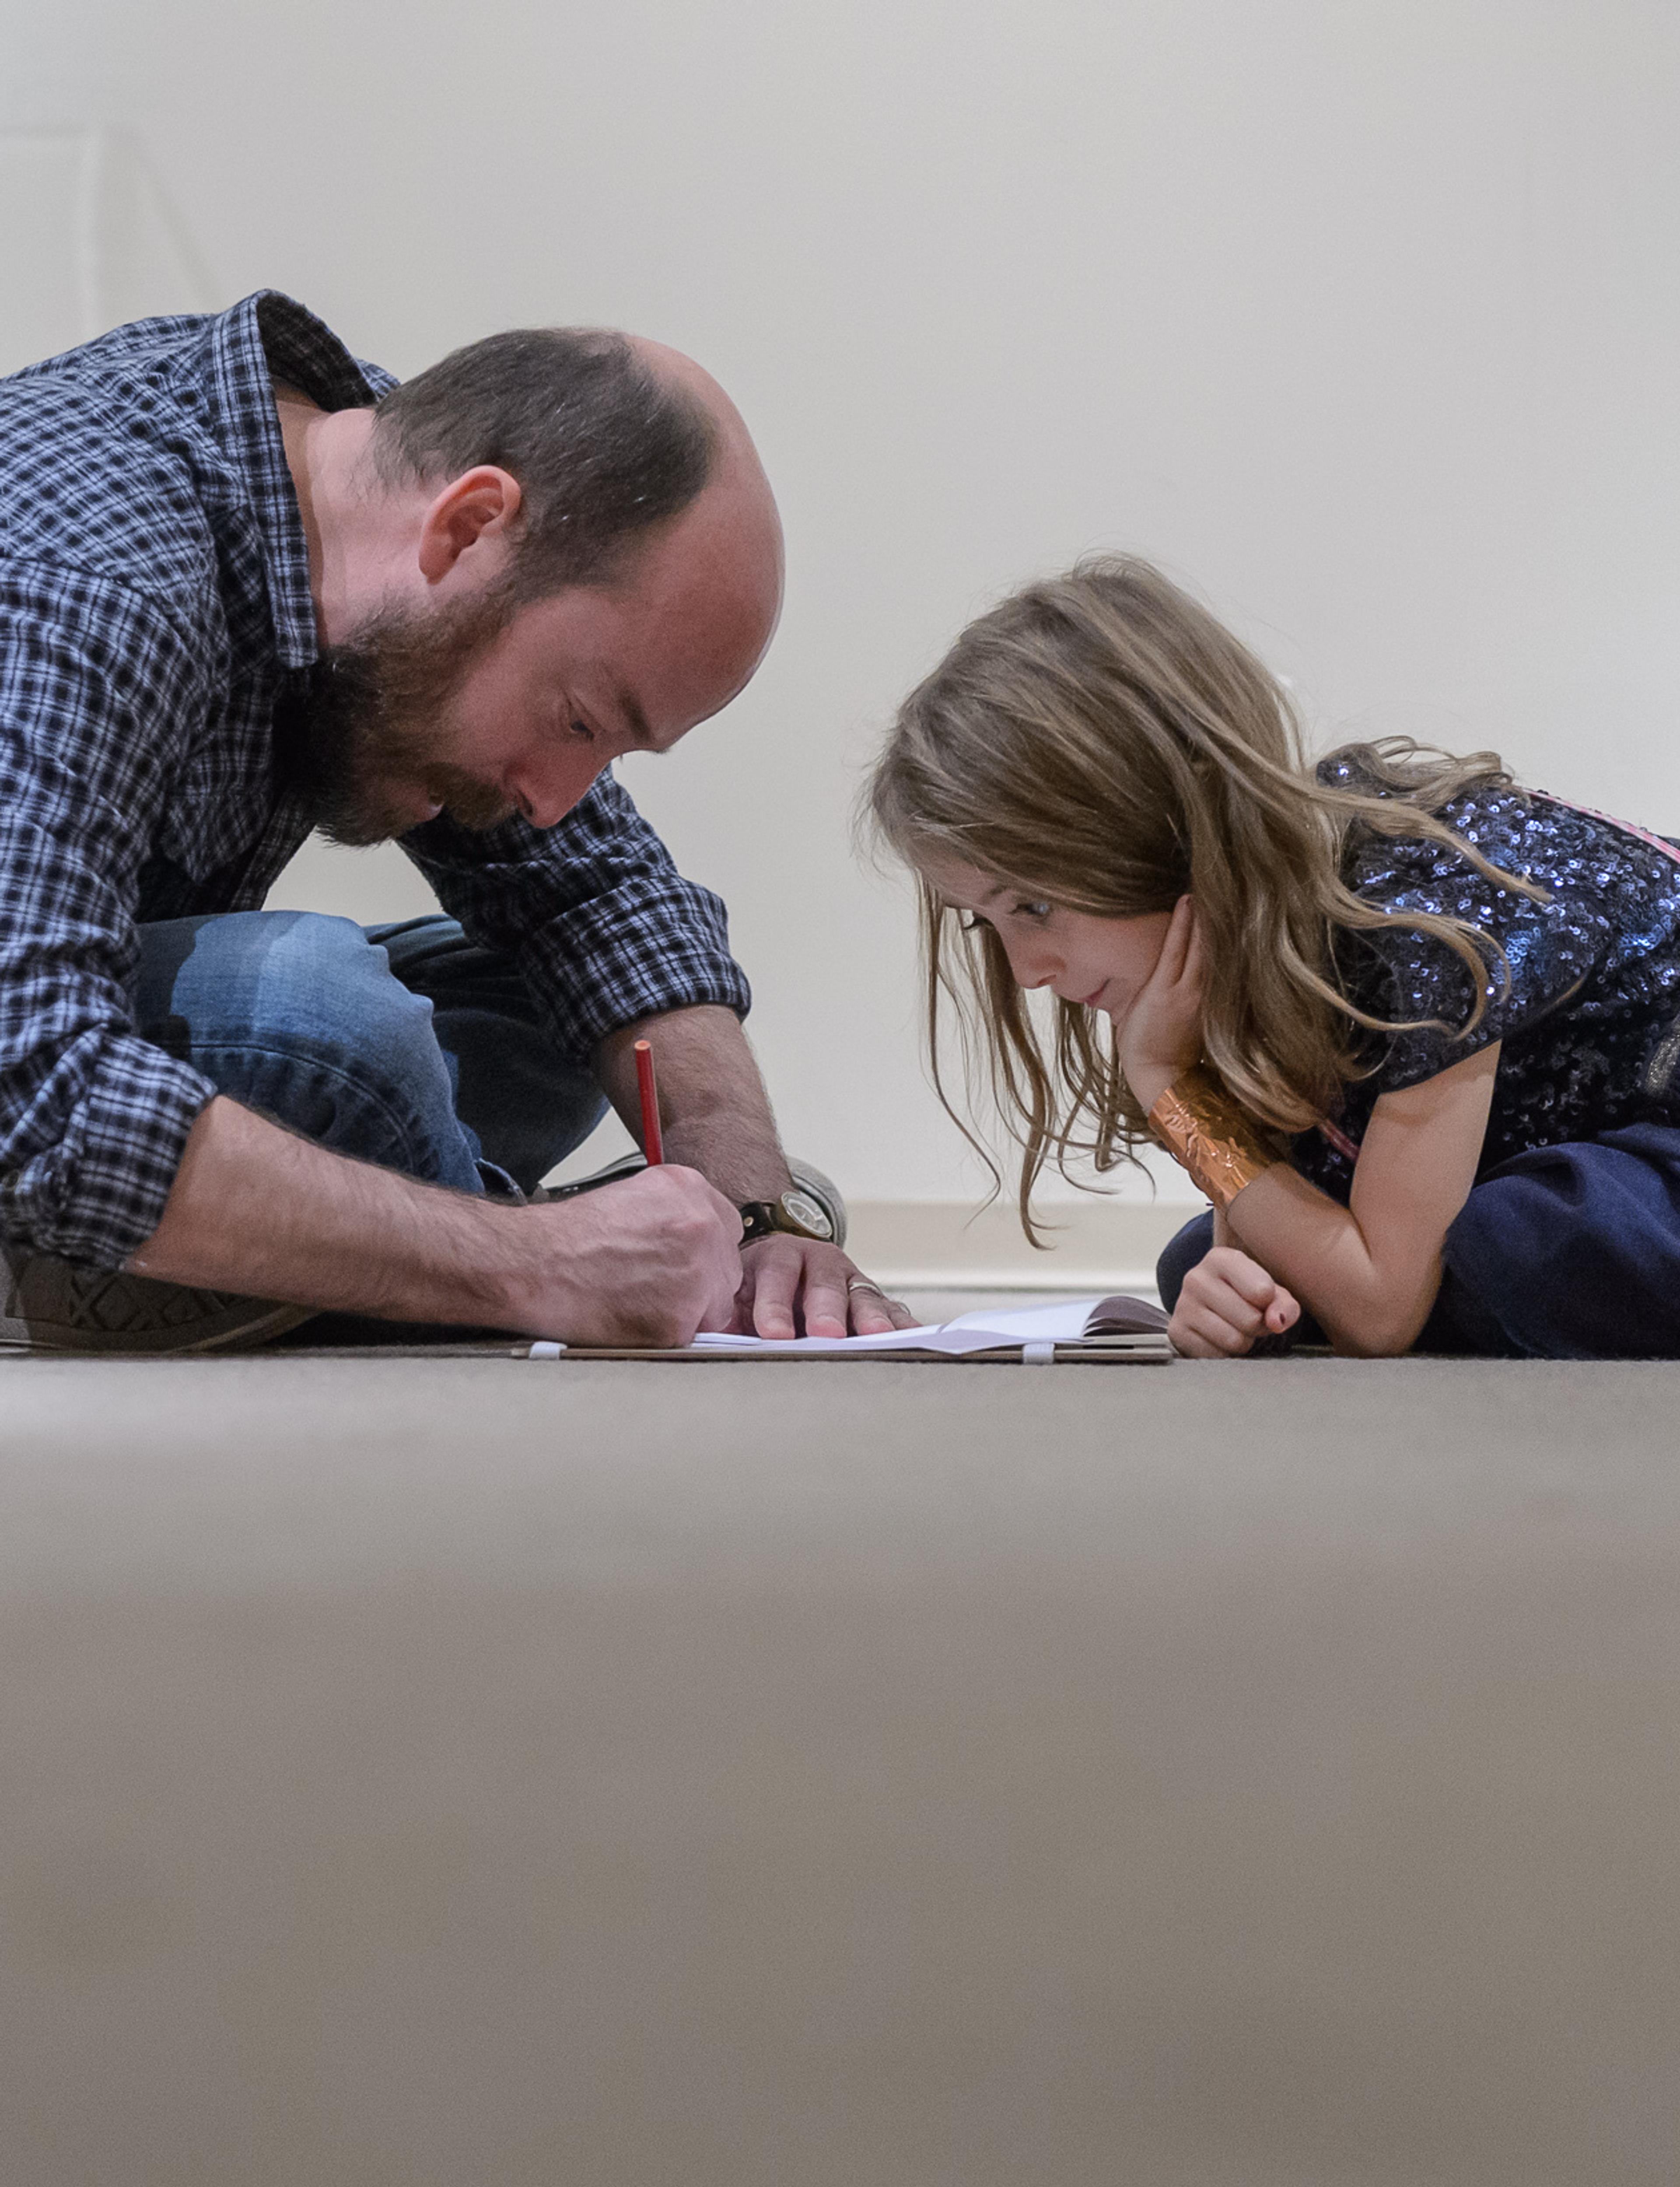
MULTIPOLYGON (((1332 752, 1319 781, 1387 794, 1358 757, 1332 752)), ((1382 1094, 1420 1085, 1503 1041, 1481 1172, 1531 1146, 1592 1139, 1632 1122, 1680 1124, 1680 864, 1656 842, 1520 790, 1472 790, 1442 820, 1481 855, 1536 881, 1544 903, 1501 888, 1461 851, 1350 833, 1343 879, 1387 912, 1439 912, 1492 934, 1485 1010, 1468 1034, 1442 1028, 1374 1034, 1369 1076, 1354 1080, 1334 1120, 1361 1139, 1382 1094)), ((1343 993, 1372 1017, 1461 1026, 1474 982, 1461 958, 1413 927, 1343 934, 1343 993)), ((1348 1153, 1302 1133, 1293 1166, 1334 1198, 1354 1179, 1348 1153)))

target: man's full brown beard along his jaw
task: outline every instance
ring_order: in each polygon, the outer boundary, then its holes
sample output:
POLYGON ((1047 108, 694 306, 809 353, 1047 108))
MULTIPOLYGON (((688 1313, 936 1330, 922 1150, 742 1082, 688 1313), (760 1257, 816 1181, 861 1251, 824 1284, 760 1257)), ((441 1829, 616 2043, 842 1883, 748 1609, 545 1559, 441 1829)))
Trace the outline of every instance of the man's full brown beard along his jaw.
POLYGON ((462 827, 486 831, 514 811, 499 783, 457 768, 448 706, 508 623, 490 595, 433 615, 381 608, 324 645, 293 715, 287 772, 332 842, 365 849, 420 827, 416 792, 462 827))

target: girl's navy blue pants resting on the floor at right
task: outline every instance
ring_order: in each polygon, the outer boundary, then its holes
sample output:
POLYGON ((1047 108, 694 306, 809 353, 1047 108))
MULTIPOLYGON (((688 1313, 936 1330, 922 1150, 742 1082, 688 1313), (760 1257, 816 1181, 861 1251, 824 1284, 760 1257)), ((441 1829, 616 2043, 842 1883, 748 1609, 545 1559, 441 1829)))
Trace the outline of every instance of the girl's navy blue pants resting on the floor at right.
MULTIPOLYGON (((1172 1310, 1214 1242, 1186 1223, 1155 1279, 1172 1310)), ((1492 1168, 1442 1253, 1446 1277, 1415 1352, 1540 1360, 1680 1358, 1680 1131, 1630 1124, 1492 1168)), ((1302 1317, 1297 1341, 1323 1343, 1302 1317)))

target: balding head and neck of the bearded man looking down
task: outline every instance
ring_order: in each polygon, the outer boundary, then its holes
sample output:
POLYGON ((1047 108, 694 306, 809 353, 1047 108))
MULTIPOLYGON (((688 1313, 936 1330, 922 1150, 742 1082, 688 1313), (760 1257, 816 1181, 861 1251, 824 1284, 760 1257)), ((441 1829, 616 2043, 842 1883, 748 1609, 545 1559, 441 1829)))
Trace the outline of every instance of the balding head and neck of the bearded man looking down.
POLYGON ((726 706, 770 645, 777 503, 678 350, 492 335, 372 416, 280 413, 330 669, 317 803, 343 842, 442 809, 553 827, 615 759, 726 706))

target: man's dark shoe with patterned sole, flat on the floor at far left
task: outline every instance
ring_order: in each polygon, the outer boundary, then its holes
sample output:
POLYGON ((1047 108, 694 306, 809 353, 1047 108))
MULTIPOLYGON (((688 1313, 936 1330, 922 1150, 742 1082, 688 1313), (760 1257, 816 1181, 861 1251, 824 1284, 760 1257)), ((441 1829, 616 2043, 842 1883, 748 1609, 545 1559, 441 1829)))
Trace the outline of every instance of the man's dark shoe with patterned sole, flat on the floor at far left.
POLYGON ((234 1352, 308 1319, 306 1306, 190 1290, 0 1244, 0 1352, 234 1352))

